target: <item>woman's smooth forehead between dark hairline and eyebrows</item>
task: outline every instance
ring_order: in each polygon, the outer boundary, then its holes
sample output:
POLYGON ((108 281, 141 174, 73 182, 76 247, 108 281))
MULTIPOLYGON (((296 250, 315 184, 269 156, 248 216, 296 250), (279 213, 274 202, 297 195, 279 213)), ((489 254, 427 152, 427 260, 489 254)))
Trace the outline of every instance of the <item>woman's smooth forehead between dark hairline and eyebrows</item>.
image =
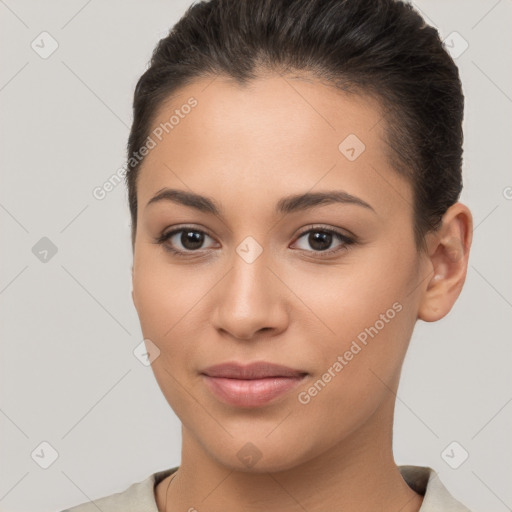
POLYGON ((390 198, 412 199, 388 162, 384 128, 378 101, 315 80, 273 75, 239 85, 203 78, 160 106, 138 199, 145 204, 166 186, 239 200, 316 186, 344 188, 388 210, 390 198))

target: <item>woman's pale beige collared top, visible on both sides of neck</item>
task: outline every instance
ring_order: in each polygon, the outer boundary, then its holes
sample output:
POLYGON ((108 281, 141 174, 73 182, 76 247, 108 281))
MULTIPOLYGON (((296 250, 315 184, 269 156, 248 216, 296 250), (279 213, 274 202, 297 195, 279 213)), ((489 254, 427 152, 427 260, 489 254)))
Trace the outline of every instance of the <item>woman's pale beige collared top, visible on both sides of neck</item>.
MULTIPOLYGON (((95 500, 95 504, 86 502, 62 512, 159 512, 155 486, 177 469, 158 471, 123 492, 95 500)), ((398 466, 398 469, 407 485, 424 496, 419 512, 471 512, 448 492, 432 468, 398 466)))

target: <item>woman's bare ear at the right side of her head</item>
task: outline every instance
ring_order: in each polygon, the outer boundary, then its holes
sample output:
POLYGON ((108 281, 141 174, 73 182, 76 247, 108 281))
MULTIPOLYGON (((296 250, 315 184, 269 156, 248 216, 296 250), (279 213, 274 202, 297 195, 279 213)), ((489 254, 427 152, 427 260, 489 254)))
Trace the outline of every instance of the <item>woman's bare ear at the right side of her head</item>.
POLYGON ((466 280, 472 240, 473 217, 462 203, 452 205, 440 228, 427 234, 431 276, 420 300, 421 320, 435 322, 452 309, 466 280))

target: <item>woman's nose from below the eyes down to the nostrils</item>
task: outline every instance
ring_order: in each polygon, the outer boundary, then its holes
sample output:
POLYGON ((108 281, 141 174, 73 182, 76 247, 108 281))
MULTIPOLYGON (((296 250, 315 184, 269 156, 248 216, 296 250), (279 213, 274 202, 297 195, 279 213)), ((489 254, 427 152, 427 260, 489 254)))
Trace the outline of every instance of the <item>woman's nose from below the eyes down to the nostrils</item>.
POLYGON ((291 292, 268 264, 265 251, 252 263, 234 255, 231 269, 215 287, 212 324, 217 330, 252 340, 286 329, 291 292))

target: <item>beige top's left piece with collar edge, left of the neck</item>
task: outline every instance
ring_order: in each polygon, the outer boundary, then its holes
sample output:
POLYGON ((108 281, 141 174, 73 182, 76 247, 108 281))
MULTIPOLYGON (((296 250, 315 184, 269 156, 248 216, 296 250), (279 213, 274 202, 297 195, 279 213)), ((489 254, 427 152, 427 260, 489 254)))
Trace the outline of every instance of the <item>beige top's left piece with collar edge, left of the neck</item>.
POLYGON ((131 484, 122 492, 80 503, 61 512, 158 512, 155 485, 177 468, 152 473, 142 481, 131 484))

